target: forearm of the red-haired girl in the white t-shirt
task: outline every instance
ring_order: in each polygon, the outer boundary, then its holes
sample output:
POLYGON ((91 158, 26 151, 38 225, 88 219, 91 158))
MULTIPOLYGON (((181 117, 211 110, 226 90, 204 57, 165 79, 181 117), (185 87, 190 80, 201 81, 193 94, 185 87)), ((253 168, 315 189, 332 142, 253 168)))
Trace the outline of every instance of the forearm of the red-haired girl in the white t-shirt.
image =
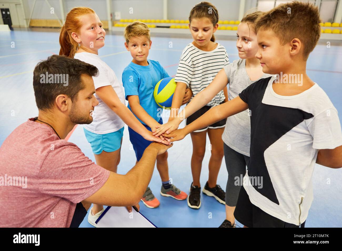
POLYGON ((134 116, 134 114, 128 109, 128 107, 121 103, 113 108, 113 111, 122 119, 122 121, 132 128, 136 133, 143 135, 146 133, 146 128, 139 120, 134 116))

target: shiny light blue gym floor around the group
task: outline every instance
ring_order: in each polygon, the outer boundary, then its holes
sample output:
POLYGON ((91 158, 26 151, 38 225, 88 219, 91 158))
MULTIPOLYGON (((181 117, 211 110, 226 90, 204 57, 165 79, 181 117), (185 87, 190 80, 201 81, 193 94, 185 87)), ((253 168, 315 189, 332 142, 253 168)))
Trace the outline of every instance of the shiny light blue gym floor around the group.
MULTIPOLYGON (((32 88, 32 72, 39 60, 59 53, 58 38, 58 32, 0 32, 0 144, 14 128, 27 121, 28 118, 38 115, 32 88), (11 47, 13 42, 14 48, 11 47)), ((183 48, 191 41, 190 35, 189 38, 152 37, 149 58, 158 60, 170 76, 173 76, 183 48), (172 48, 169 48, 169 42, 172 42, 172 48)), ((231 62, 238 59, 235 40, 218 40, 218 42, 226 47, 231 62)), ((123 69, 132 60, 124 48, 123 37, 107 34, 105 46, 99 50, 99 55, 115 71, 121 81, 123 69)), ((342 47, 331 45, 327 48, 326 44, 317 45, 307 62, 307 74, 328 94, 340 112, 340 120, 342 118, 341 66, 342 47)), ((167 117, 163 119, 164 123, 167 122, 167 117)), ((183 126, 182 123, 181 127, 183 126)), ((95 161, 90 144, 84 137, 82 125, 76 128, 69 141, 77 144, 86 156, 95 161)), ((207 144, 209 144, 208 138, 207 144)), ((170 178, 186 193, 189 192, 192 182, 191 154, 192 143, 189 135, 182 141, 175 142, 169 150, 170 178)), ((207 151, 202 164, 202 186, 208 179, 209 157, 210 152, 207 151)), ((130 150, 128 129, 125 126, 118 173, 126 173, 134 164, 135 154, 133 150, 130 150)), ((227 176, 223 159, 217 183, 224 190, 227 176)), ((306 220, 306 227, 342 226, 341 177, 342 169, 331 169, 316 164, 313 175, 314 201, 306 220)), ((149 186, 159 199, 160 206, 150 209, 140 202, 140 211, 158 227, 218 227, 225 219, 225 206, 213 197, 201 194, 201 208, 194 210, 187 206, 186 200, 179 201, 161 196, 159 193, 161 181, 156 168, 149 186)), ((87 217, 81 227, 93 227, 88 223, 87 217)), ((237 224, 242 226, 238 222, 237 224)))

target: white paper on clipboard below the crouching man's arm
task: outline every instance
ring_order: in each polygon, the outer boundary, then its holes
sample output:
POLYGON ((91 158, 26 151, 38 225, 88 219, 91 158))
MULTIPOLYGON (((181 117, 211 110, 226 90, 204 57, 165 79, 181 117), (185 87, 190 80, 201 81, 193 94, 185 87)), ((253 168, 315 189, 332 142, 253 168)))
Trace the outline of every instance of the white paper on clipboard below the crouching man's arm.
POLYGON ((156 227, 133 208, 132 214, 127 211, 126 207, 107 208, 100 215, 97 227, 156 227))

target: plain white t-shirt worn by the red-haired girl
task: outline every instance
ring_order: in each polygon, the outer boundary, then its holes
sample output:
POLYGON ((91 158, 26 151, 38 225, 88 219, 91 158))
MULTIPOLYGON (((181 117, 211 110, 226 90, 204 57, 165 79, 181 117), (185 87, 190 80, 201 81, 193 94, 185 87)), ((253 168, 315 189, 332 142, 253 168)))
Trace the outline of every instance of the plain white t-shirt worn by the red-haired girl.
MULTIPOLYGON (((97 77, 93 77, 95 90, 102 86, 111 85, 120 101, 126 104, 122 84, 119 82, 114 71, 98 55, 89 52, 80 52, 76 53, 74 58, 97 67, 99 74, 97 77)), ((113 133, 121 129, 124 126, 121 118, 96 93, 94 96, 98 101, 98 105, 95 106, 93 111, 93 122, 89 125, 84 125, 84 128, 96 134, 113 133)))

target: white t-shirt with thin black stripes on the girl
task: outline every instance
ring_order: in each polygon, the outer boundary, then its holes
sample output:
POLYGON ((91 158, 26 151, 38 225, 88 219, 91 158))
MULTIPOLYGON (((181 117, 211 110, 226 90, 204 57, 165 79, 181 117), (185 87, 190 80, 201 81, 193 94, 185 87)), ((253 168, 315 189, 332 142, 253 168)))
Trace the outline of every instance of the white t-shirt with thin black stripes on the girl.
MULTIPOLYGON (((179 60, 175 82, 185 83, 191 88, 194 97, 206 88, 213 81, 216 74, 228 64, 228 54, 223 45, 218 43, 213 51, 206 52, 189 43, 183 50, 179 60)), ((225 96, 223 90, 221 90, 207 106, 217 106, 224 99, 225 96)))

